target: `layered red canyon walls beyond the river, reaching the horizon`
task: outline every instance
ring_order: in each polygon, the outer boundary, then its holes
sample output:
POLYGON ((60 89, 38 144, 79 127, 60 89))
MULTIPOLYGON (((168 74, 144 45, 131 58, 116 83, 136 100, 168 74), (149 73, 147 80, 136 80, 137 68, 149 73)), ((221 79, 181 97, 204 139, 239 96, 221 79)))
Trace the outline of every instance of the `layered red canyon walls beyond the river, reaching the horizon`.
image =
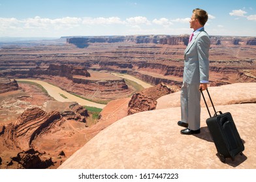
MULTIPOLYGON (((152 85, 163 82, 181 86, 188 38, 186 34, 81 36, 67 37, 67 44, 61 47, 8 45, 1 47, 0 75, 11 79, 35 77, 48 81, 53 81, 53 77, 65 77, 69 81, 57 78, 53 84, 65 90, 76 90, 76 94, 82 93, 90 99, 95 95, 107 99, 111 92, 129 96, 132 92, 124 80, 110 78, 106 81, 97 74, 89 76, 86 70, 129 73, 152 85), (86 44, 86 47, 76 44, 86 44)), ((253 72, 256 67, 255 37, 210 36, 210 39, 210 83, 224 85, 256 81, 253 72)))

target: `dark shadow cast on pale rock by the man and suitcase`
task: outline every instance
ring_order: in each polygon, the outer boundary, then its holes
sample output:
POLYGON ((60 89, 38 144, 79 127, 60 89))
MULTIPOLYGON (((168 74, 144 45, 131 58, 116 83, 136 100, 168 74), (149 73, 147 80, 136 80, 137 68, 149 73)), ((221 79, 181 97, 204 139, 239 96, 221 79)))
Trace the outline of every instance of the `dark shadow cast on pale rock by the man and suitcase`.
MULTIPOLYGON (((210 142, 210 144, 215 145, 214 144, 214 140, 212 140, 212 136, 210 134, 210 131, 208 129, 208 127, 201 127, 200 128, 200 134, 194 135, 202 140, 206 140, 207 142, 210 142)), ((245 144, 246 142, 244 140, 242 140, 242 142, 245 144)), ((217 149, 216 149, 217 151, 217 149)), ((218 157, 217 153, 216 156, 218 157)), ((210 157, 210 156, 209 156, 210 157)), ((232 167, 236 167, 239 166, 240 164, 242 164, 242 162, 246 161, 248 159, 248 157, 246 157, 246 155, 244 155, 244 153, 242 153, 242 155, 238 154, 234 157, 234 161, 232 161, 231 158, 226 158, 225 160, 225 164, 229 164, 232 167)), ((221 161, 219 161, 221 162, 221 161)))

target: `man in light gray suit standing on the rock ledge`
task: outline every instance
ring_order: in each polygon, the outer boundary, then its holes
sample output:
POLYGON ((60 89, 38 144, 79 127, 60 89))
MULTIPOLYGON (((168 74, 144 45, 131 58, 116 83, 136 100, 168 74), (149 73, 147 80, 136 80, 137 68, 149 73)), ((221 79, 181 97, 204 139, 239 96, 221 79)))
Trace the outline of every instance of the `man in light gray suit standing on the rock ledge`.
POLYGON ((207 20, 207 12, 197 8, 189 21, 194 31, 184 51, 184 77, 180 94, 182 120, 178 122, 178 125, 186 127, 180 131, 183 135, 200 133, 200 89, 206 90, 209 77, 210 38, 204 31, 207 20))

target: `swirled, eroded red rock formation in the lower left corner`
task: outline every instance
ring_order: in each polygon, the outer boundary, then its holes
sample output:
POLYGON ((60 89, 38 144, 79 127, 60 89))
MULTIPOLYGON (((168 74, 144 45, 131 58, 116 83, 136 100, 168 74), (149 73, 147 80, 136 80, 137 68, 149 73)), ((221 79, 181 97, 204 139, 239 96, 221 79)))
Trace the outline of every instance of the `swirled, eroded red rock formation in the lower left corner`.
MULTIPOLYGON (((50 107, 53 109, 59 104, 52 103, 50 107)), ((5 165, 0 164, 2 165, 0 167, 52 168, 54 163, 61 161, 62 157, 65 157, 63 144, 54 144, 54 142, 65 140, 63 139, 65 135, 74 133, 72 127, 71 129, 67 129, 67 122, 76 121, 86 123, 88 116, 88 111, 77 103, 69 103, 69 107, 63 109, 61 112, 57 110, 46 112, 40 108, 25 110, 16 122, 9 123, 7 126, 0 126, 0 144, 3 142, 3 148, 0 150, 0 154, 3 156, 1 160, 5 161, 5 165), (59 138, 58 135, 61 135, 61 133, 62 136, 59 138), (42 145, 44 143, 42 142, 42 138, 53 143, 44 146, 42 145), (57 148, 50 149, 49 146, 51 145, 57 148), (48 151, 48 153, 45 151, 48 151), (56 156, 57 153, 59 155, 62 153, 62 157, 56 156)))

